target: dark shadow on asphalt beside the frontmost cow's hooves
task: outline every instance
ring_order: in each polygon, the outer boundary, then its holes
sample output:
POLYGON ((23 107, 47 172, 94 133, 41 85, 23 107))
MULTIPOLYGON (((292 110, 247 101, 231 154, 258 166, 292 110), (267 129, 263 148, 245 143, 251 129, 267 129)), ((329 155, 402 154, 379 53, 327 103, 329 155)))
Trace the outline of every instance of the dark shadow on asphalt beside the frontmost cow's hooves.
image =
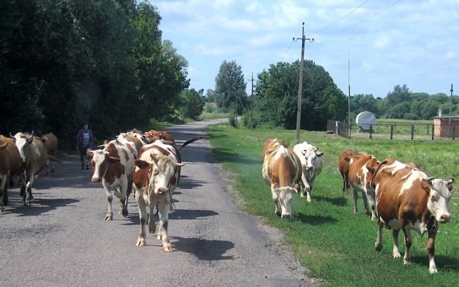
POLYGON ((199 260, 227 260, 233 259, 233 255, 224 256, 226 251, 234 248, 234 243, 224 240, 207 240, 199 238, 170 237, 172 246, 177 251, 195 255, 199 260))

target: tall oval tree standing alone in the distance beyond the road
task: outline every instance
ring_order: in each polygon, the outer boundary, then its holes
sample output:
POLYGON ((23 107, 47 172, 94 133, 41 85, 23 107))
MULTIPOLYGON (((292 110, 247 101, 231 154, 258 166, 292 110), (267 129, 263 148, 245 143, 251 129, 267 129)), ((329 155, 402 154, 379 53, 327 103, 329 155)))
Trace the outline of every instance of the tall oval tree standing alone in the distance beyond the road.
POLYGON ((227 62, 226 60, 220 65, 217 76, 215 77, 215 98, 218 107, 224 111, 234 110, 238 107, 238 114, 242 113, 241 103, 247 101, 245 93, 246 83, 241 66, 236 61, 227 62))

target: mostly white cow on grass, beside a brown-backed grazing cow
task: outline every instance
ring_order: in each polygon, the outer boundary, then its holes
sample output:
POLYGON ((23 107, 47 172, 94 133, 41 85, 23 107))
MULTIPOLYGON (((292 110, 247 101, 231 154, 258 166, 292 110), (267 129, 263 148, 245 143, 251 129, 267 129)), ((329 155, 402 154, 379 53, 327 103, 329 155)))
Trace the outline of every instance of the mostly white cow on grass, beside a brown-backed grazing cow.
POLYGON ((303 189, 301 191, 301 197, 304 197, 304 193, 307 194, 308 202, 311 202, 311 190, 314 180, 317 175, 322 171, 322 155, 323 152, 317 147, 309 144, 308 142, 302 142, 293 147, 293 151, 298 155, 301 161, 302 175, 301 180, 303 181, 303 189))

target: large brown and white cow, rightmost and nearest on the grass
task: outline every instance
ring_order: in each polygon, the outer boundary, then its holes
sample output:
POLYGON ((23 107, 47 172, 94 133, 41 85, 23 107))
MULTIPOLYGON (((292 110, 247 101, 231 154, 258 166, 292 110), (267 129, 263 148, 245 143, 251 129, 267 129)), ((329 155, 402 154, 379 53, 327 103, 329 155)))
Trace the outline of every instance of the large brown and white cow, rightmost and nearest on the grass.
POLYGON ((428 232, 429 271, 437 273, 434 258, 435 237, 438 222, 447 223, 451 218, 448 203, 453 182, 453 178, 446 181, 428 177, 419 169, 393 159, 383 161, 371 181, 378 212, 378 234, 374 248, 381 250, 382 225, 386 225, 389 229, 392 228, 393 256, 399 258, 398 233, 401 229, 405 235, 406 247, 403 264, 408 264, 413 242, 411 229, 418 231, 420 236, 428 232))

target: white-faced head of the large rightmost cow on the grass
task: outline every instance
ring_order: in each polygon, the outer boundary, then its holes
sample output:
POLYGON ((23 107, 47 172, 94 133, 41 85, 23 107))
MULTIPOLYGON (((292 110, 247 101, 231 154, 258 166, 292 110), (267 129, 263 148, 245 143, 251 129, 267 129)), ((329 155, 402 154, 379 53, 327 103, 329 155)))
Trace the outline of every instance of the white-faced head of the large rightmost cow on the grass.
POLYGON ((448 203, 452 194, 454 178, 446 181, 440 178, 429 177, 422 179, 422 188, 427 192, 427 209, 440 223, 447 223, 451 219, 448 203))

